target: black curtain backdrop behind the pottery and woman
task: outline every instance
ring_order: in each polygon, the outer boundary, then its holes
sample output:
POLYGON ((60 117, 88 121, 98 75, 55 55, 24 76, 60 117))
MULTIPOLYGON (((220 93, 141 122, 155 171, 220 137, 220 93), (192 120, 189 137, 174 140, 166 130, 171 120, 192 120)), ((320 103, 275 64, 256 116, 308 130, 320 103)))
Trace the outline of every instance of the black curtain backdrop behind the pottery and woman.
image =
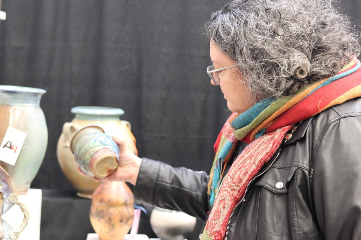
MULTIPOLYGON (((47 90, 48 148, 31 186, 73 189, 56 144, 74 117, 70 109, 80 105, 124 109, 140 157, 209 171, 230 112, 205 72, 203 26, 225 2, 3 0, 0 84, 47 90)), ((359 0, 342 5, 361 22, 359 0)))

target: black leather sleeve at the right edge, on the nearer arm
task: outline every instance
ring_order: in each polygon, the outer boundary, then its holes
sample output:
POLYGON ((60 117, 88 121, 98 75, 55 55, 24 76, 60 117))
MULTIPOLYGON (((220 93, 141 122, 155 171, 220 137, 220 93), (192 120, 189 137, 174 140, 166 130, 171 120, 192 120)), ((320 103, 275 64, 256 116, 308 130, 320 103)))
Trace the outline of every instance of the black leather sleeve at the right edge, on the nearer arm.
POLYGON ((319 227, 325 239, 361 239, 361 117, 331 119, 324 129, 312 157, 319 227))

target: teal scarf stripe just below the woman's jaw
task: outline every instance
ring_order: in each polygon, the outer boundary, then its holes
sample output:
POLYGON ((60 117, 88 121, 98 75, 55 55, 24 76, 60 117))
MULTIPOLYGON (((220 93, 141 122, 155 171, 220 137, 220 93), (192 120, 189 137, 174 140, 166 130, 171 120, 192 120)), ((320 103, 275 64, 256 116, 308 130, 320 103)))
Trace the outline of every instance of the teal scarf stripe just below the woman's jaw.
POLYGON ((244 113, 235 118, 231 126, 235 129, 240 129, 250 124, 263 110, 265 110, 271 103, 276 100, 275 97, 266 98, 256 103, 244 113))

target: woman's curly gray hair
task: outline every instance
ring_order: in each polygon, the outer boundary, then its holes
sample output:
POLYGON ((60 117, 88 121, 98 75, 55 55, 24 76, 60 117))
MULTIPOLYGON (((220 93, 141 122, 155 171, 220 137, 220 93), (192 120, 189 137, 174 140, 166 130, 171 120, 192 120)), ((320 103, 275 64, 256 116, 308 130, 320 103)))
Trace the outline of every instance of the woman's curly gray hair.
POLYGON ((288 96, 360 54, 355 24, 331 0, 232 0, 205 34, 234 60, 256 100, 288 96))

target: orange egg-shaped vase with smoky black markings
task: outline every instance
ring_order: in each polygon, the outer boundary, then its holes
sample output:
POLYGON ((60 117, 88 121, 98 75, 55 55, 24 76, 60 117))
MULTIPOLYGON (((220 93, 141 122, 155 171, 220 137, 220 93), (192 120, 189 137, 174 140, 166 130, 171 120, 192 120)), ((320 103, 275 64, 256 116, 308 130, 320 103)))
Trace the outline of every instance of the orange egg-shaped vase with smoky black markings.
POLYGON ((100 240, 123 240, 134 216, 134 197, 125 182, 101 182, 94 191, 90 222, 100 240))

